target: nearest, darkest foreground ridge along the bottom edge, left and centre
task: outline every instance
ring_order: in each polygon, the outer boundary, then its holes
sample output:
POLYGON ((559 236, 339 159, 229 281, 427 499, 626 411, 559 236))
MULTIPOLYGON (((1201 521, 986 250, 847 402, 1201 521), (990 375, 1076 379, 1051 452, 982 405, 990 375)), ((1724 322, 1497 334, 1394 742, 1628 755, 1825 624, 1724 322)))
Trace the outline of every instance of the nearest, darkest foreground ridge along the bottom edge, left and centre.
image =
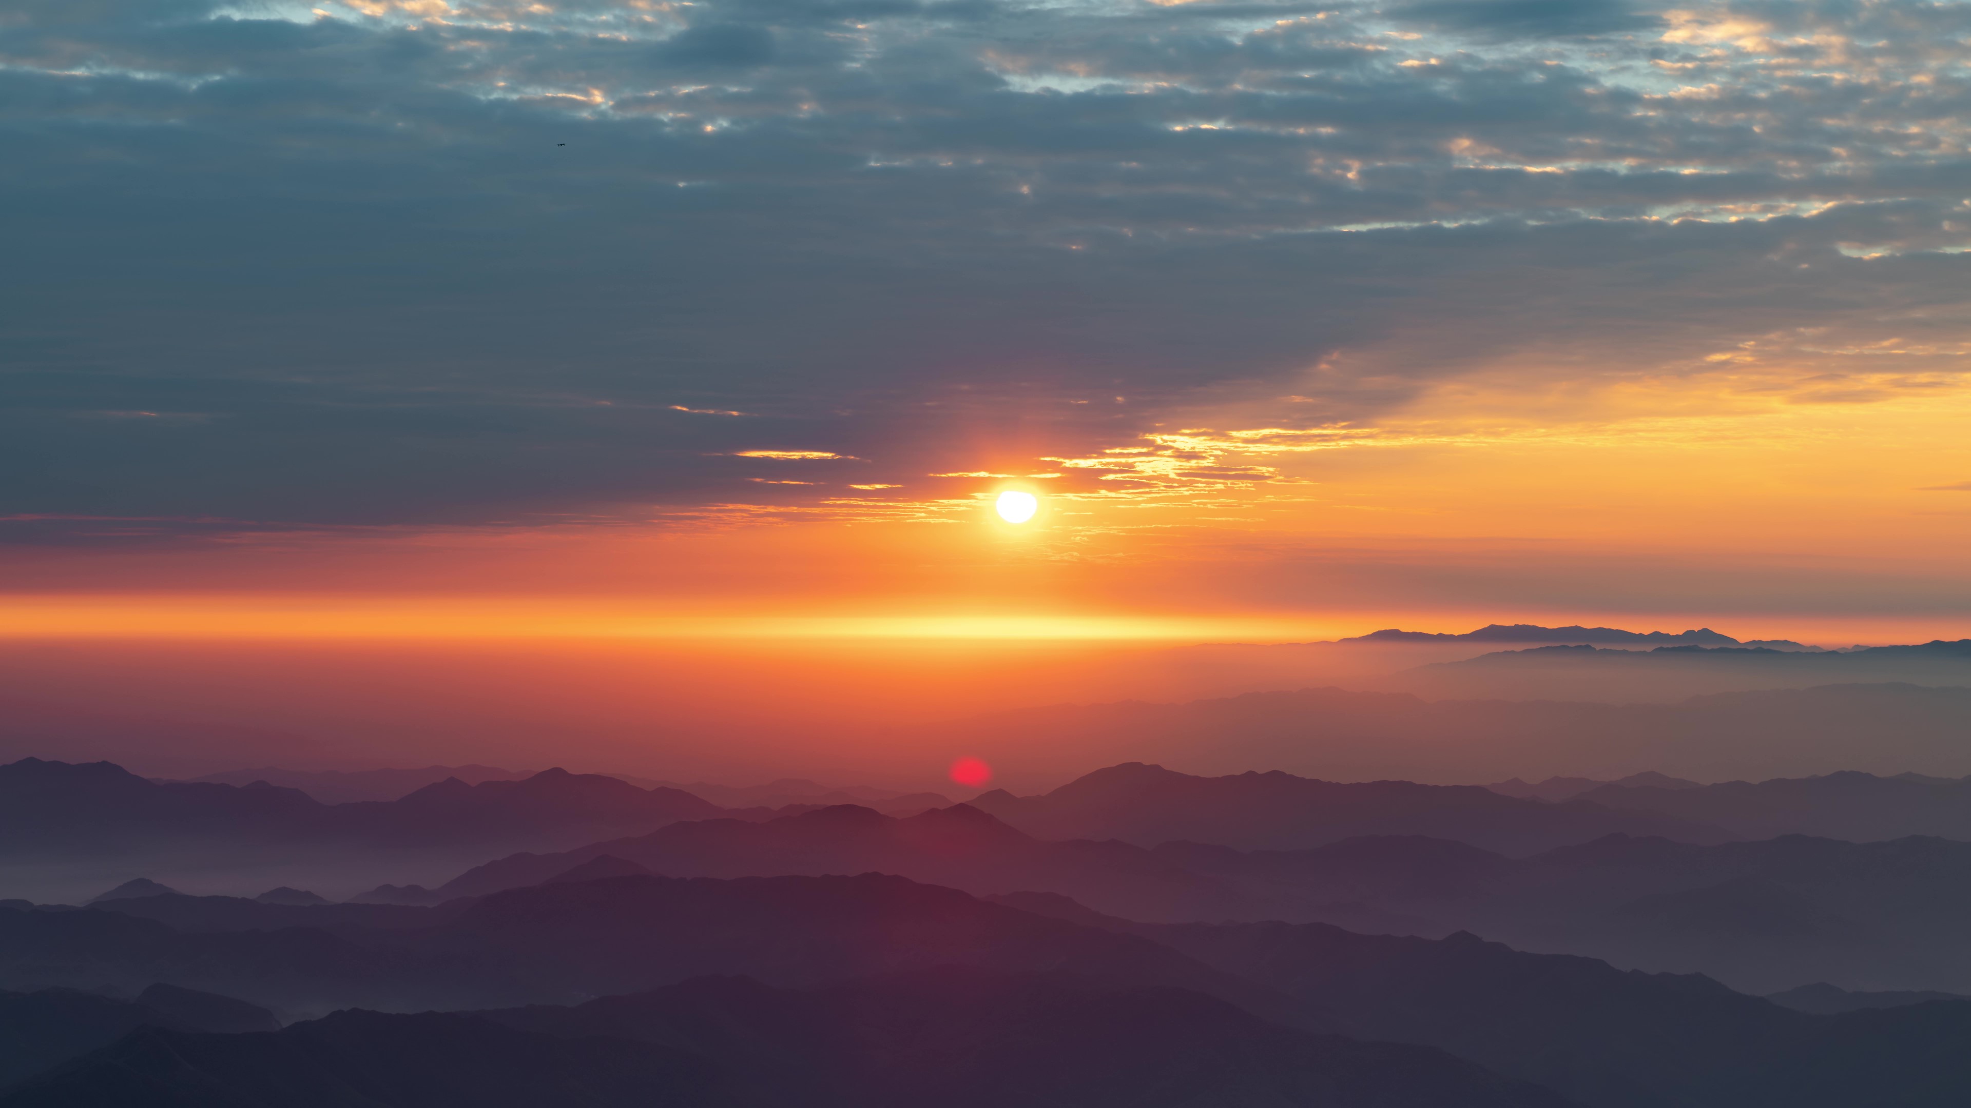
POLYGON ((702 978, 489 1013, 339 1011, 276 1035, 144 1029, 10 1096, 81 1104, 1561 1108, 1429 1047, 1271 1025, 1208 996, 940 968, 777 990, 702 978), (142 1098, 142 1100, 138 1100, 142 1098))

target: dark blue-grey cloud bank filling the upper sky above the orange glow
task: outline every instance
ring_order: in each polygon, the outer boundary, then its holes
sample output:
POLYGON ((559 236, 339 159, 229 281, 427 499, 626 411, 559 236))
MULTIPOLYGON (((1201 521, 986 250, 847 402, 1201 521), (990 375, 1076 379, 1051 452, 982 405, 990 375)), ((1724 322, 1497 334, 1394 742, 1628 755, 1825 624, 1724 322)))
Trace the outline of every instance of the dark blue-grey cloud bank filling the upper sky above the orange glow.
POLYGON ((643 519, 1955 335, 1965 12, 1429 8, 12 6, 0 517, 643 519))

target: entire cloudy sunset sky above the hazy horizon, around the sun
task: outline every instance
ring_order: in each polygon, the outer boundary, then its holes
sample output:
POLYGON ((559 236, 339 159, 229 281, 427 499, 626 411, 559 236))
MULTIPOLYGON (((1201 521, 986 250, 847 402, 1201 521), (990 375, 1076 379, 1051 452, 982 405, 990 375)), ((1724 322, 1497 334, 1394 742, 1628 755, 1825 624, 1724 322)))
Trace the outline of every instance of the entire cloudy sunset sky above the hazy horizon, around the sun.
POLYGON ((1967 37, 12 0, 0 637, 1957 639, 1967 37))

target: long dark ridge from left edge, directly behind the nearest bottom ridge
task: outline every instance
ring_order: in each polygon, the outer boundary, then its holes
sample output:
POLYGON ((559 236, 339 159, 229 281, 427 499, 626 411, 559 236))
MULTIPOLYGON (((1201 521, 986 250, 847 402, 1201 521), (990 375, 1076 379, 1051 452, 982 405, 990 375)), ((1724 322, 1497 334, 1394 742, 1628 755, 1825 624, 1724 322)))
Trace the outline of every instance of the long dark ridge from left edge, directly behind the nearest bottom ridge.
MULTIPOLYGON (((378 907, 237 903, 284 913, 378 907)), ((940 964, 1072 964, 1104 980, 1190 988, 1265 1017, 1297 1019, 1293 1005, 1265 988, 1155 942, 879 873, 611 877, 396 911, 430 913, 430 927, 179 931, 106 907, 0 909, 0 988, 87 982, 134 992, 164 980, 280 1011, 323 1013, 560 1004, 704 974, 804 986, 940 964)))

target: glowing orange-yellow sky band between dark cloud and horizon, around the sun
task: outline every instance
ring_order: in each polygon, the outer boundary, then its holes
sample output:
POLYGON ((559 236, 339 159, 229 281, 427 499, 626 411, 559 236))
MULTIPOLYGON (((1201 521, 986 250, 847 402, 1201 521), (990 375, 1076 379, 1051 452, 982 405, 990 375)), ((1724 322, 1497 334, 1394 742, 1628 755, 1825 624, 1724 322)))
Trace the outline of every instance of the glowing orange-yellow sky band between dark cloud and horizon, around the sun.
POLYGON ((0 635, 1309 641, 1587 621, 1961 637, 1971 491, 1947 485, 1971 473, 1965 392, 1535 402, 1472 379, 1346 434, 1200 412, 1230 430, 1153 432, 1110 455, 1127 467, 999 457, 926 481, 932 499, 16 548, 0 635), (1001 487, 1033 489, 1043 513, 997 520, 1001 487))

